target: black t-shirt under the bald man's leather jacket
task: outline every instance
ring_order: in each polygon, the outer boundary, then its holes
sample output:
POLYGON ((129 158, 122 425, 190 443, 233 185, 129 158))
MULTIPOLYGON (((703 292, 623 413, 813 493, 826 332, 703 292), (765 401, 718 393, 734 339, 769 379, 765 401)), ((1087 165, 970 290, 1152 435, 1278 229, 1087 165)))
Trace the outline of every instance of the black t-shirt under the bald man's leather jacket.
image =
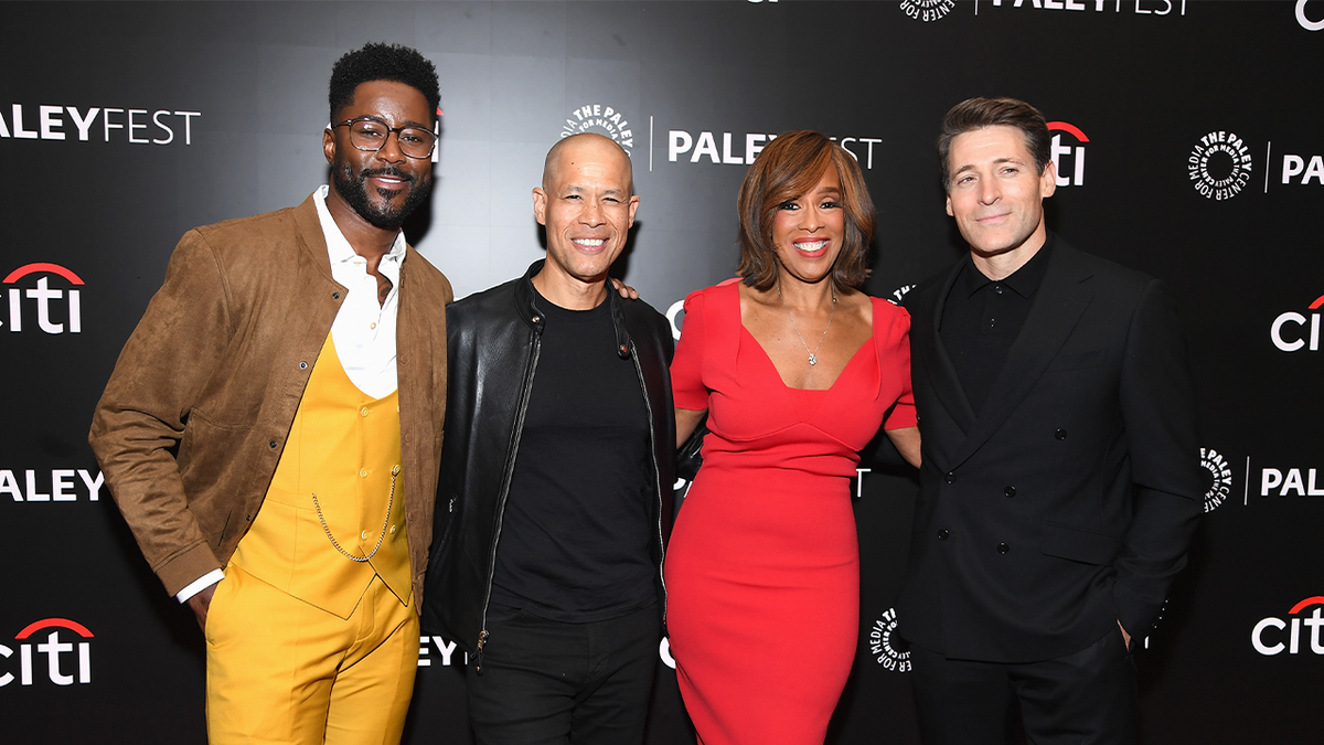
POLYGON ((493 603, 561 622, 618 618, 657 602, 643 392, 634 361, 617 354, 609 301, 567 310, 539 296, 538 308, 545 326, 493 603))

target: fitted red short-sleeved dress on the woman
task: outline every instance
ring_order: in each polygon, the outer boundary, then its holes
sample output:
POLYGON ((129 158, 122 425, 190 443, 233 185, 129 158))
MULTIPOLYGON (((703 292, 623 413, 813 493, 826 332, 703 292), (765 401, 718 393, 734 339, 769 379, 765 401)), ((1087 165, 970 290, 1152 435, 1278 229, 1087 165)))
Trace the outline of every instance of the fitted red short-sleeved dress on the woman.
POLYGON ((821 744, 859 635, 857 452, 915 426, 910 315, 874 298, 833 387, 789 388, 735 282, 686 298, 671 363, 675 404, 711 430, 667 547, 671 655, 700 744, 821 744))

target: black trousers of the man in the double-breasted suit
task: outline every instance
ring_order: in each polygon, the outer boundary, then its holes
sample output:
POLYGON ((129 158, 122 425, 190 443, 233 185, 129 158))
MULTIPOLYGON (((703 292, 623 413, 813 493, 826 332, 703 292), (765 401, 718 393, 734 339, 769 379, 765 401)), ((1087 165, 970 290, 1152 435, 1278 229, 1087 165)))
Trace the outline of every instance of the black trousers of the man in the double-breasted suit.
POLYGON ((924 745, 1005 745, 1012 707, 1031 745, 1135 745, 1136 664, 1113 630, 1037 663, 952 660, 911 646, 924 745))

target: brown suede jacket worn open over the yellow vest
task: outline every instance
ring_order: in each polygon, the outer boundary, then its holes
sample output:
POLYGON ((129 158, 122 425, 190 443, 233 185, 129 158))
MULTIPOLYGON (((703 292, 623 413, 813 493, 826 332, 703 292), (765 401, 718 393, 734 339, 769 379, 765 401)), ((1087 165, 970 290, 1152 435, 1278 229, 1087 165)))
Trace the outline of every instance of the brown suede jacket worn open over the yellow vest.
MULTIPOLYGON (((346 289, 312 198, 180 239, 97 404, 89 440, 169 594, 222 569, 257 517, 346 289)), ((414 607, 432 544, 450 282, 400 266, 396 365, 414 607)))

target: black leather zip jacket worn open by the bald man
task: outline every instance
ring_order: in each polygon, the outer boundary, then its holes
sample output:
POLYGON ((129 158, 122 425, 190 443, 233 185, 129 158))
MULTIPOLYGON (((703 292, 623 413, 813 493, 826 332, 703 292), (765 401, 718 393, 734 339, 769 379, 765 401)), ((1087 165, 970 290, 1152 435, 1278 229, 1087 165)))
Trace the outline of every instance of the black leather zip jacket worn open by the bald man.
MULTIPOLYGON (((535 304, 535 262, 519 280, 466 297, 446 309, 446 426, 433 544, 424 597, 424 628, 459 644, 482 672, 496 542, 515 469, 520 430, 538 371, 543 313, 535 304)), ((645 391, 657 498, 659 606, 666 607, 662 555, 671 533, 675 484, 675 414, 669 366, 674 341, 666 318, 642 301, 606 293, 617 354, 634 359, 645 391)))

